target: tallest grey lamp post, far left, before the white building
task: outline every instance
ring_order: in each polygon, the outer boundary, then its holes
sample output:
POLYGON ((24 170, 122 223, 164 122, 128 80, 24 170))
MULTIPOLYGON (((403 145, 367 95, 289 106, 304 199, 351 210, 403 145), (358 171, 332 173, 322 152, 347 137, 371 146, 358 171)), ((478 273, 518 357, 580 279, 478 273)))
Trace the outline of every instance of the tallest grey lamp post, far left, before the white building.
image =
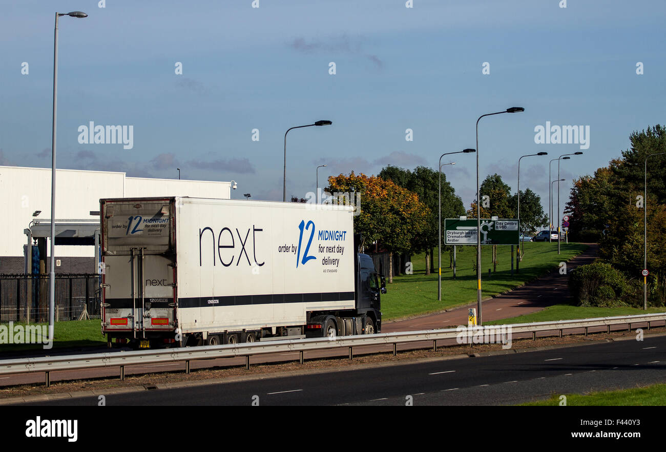
POLYGON ((55 13, 55 31, 53 32, 53 135, 51 136, 51 259, 49 271, 49 339, 53 340, 55 323, 55 135, 58 117, 58 19, 60 16, 88 17, 81 11, 55 13))

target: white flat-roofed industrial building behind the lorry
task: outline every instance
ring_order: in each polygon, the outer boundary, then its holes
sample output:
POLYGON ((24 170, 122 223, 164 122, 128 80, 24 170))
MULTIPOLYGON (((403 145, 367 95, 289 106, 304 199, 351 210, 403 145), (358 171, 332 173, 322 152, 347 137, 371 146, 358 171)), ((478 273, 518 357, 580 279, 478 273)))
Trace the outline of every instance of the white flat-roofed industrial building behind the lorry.
MULTIPOLYGON (((189 196, 230 199, 231 183, 127 177, 125 173, 56 170, 56 226, 67 223, 76 236, 80 227, 99 227, 99 199, 115 197, 189 196), (77 226, 78 225, 78 226, 77 226)), ((51 169, 0 166, 0 273, 23 273, 28 235, 37 223, 51 225, 51 169), (41 211, 39 215, 33 214, 41 211)), ((40 226, 41 224, 41 226, 40 226)), ((62 230, 62 227, 61 227, 62 230)), ((93 229, 94 230, 94 229, 93 229)), ((56 231, 56 237, 61 237, 56 231)), ((47 240, 48 241, 48 240, 47 240)), ((50 243, 45 249, 50 249, 50 243)), ((93 273, 95 247, 56 245, 62 273, 93 273), (78 259, 77 259, 78 258, 78 259), (85 265, 85 269, 81 267, 85 265)), ((41 257, 43 259, 43 257, 41 257)))

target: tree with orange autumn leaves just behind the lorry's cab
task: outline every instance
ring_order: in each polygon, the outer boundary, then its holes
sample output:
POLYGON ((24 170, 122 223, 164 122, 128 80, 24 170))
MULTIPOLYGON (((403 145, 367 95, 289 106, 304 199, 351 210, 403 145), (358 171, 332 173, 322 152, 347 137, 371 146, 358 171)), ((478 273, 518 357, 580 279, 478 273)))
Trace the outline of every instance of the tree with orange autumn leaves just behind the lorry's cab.
MULTIPOLYGON (((378 241, 390 252, 388 280, 393 282, 393 254, 412 249, 426 232, 430 209, 416 193, 381 177, 338 175, 328 178, 329 193, 360 193, 360 214, 354 217, 354 232, 360 233, 363 244, 378 241)), ((362 245, 363 245, 362 244, 362 245)))

